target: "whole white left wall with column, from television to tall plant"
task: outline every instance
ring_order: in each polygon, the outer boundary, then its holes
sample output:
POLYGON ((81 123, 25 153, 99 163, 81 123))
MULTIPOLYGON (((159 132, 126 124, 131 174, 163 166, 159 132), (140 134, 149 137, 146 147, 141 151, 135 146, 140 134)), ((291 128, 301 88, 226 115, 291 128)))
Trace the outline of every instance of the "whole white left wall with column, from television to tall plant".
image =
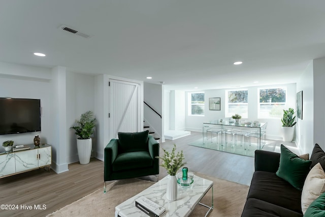
POLYGON ((0 62, 0 97, 41 99, 42 107, 41 132, 1 135, 1 143, 33 144, 39 135, 41 143, 52 146, 51 166, 57 173, 78 161, 76 138, 69 128, 81 113, 94 109, 94 76, 69 73, 59 66, 48 69, 0 62))

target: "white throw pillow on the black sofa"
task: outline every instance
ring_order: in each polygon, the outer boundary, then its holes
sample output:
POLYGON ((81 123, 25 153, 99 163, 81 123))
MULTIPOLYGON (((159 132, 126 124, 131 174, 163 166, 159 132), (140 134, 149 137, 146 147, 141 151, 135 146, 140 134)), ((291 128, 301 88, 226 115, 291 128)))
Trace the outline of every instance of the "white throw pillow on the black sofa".
POLYGON ((301 209, 305 214, 309 205, 325 192, 325 172, 316 164, 308 173, 301 194, 301 209))

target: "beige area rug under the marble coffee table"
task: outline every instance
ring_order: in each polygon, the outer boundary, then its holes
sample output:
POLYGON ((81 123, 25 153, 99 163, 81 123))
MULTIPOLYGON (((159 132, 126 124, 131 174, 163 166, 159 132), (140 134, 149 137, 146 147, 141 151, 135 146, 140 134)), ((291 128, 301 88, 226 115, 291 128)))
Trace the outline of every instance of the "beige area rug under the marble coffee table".
MULTIPOLYGON (((249 187, 223 179, 195 173, 196 175, 213 181, 214 209, 210 212, 211 217, 240 216, 246 201, 249 187)), ((99 189, 90 195, 81 198, 49 215, 47 217, 67 216, 114 216, 115 206, 131 198, 154 182, 142 179, 117 180, 107 185, 107 193, 99 189)), ((212 191, 210 190, 201 200, 204 204, 211 204, 212 191)), ((208 208, 198 205, 189 216, 204 216, 208 208)))

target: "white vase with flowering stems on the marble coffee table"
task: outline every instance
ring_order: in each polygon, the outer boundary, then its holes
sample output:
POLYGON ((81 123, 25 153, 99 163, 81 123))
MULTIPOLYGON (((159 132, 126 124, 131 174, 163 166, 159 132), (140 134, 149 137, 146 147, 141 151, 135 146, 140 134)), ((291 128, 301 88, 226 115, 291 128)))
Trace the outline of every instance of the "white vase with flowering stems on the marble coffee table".
POLYGON ((163 163, 160 164, 161 167, 165 167, 167 169, 167 173, 169 174, 168 182, 167 182, 167 192, 166 196, 167 199, 170 201, 177 200, 177 177, 176 172, 183 167, 186 162, 184 163, 184 155, 183 151, 177 152, 176 151, 176 145, 174 144, 174 147, 172 149, 172 152, 170 153, 166 149, 164 149, 164 156, 156 158, 159 158, 163 160, 163 163))

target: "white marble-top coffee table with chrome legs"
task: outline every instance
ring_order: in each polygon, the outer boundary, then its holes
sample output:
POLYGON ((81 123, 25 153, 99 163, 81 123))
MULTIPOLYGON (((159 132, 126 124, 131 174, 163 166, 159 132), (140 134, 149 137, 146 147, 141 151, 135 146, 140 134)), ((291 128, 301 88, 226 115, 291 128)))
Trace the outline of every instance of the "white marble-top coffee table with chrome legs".
POLYGON ((140 192, 136 196, 124 201, 115 207, 115 217, 147 217, 148 215, 135 206, 135 201, 140 196, 144 196, 149 200, 166 208, 166 217, 168 216, 188 216, 196 207, 203 205, 209 210, 206 215, 213 209, 213 181, 194 175, 194 182, 189 189, 183 189, 178 185, 177 200, 169 201, 166 198, 168 176, 151 185, 149 188, 140 192), (200 200, 212 188, 211 207, 200 203, 200 200))

